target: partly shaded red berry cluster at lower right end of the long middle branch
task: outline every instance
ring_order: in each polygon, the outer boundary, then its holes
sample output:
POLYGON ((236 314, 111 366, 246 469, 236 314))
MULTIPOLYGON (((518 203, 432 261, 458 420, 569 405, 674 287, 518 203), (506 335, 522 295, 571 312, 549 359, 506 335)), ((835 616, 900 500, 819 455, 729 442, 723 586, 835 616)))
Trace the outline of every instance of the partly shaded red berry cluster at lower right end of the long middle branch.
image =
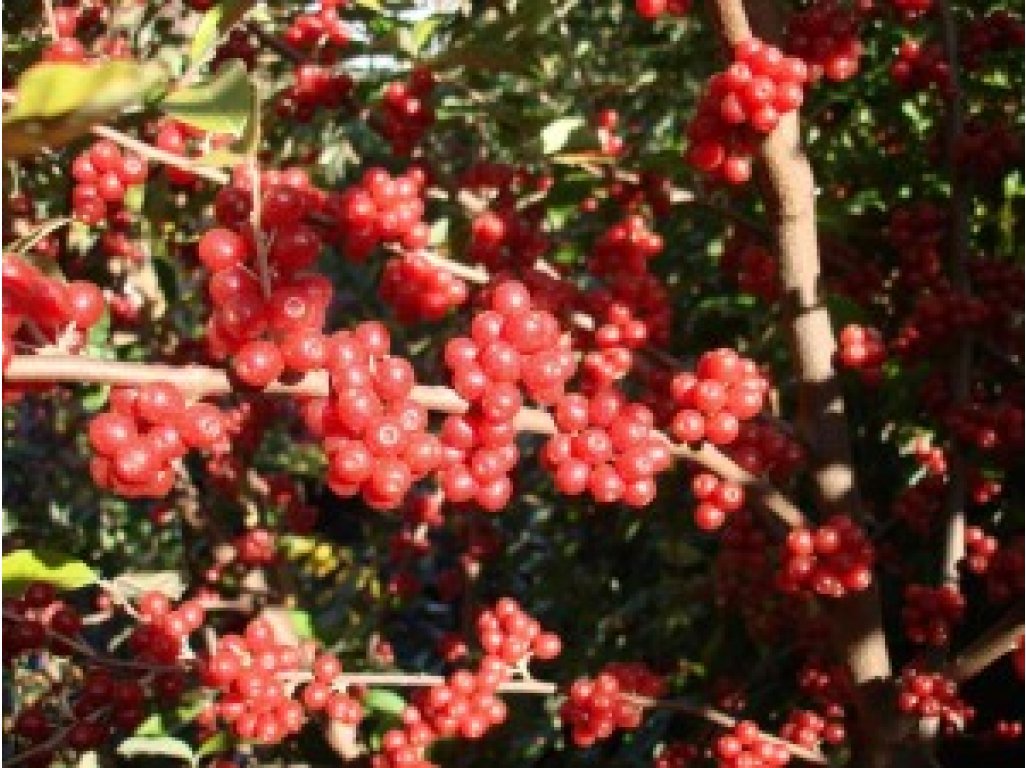
POLYGON ((815 530, 787 535, 778 583, 784 592, 842 598, 861 592, 873 578, 873 544, 851 518, 830 518, 815 530))

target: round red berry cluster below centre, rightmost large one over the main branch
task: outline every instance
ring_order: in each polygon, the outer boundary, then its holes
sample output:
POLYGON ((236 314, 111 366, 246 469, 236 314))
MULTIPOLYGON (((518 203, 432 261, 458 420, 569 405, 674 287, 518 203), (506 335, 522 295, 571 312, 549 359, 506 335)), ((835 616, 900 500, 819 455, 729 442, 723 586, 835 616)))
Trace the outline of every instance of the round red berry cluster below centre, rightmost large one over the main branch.
POLYGON ((542 462, 560 493, 588 491, 599 503, 635 508, 652 503, 656 475, 672 461, 652 411, 608 389, 590 398, 567 395, 553 415, 558 432, 546 442, 542 462))

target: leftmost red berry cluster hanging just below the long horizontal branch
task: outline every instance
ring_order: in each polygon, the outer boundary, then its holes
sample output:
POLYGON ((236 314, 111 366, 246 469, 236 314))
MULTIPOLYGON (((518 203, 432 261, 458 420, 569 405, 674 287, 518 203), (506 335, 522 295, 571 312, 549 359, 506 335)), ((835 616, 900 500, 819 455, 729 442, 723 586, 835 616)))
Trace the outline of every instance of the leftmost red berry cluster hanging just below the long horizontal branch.
POLYGON ((166 496, 174 483, 173 462, 190 450, 224 453, 228 431, 209 403, 186 403, 170 383, 114 390, 110 409, 89 421, 93 482, 129 498, 166 496))

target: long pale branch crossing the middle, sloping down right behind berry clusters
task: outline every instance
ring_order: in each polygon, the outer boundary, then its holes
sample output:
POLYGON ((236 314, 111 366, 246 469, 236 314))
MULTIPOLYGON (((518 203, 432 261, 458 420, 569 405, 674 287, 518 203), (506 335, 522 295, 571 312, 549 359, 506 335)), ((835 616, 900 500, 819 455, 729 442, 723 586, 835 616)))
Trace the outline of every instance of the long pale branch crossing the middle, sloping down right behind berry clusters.
MULTIPOLYGON (((17 355, 10 360, 4 380, 11 383, 107 383, 115 387, 137 387, 146 383, 173 381, 187 397, 228 395, 234 391, 228 374, 220 368, 199 365, 162 365, 100 360, 77 355, 17 355)), ((265 393, 292 397, 326 397, 328 378, 324 371, 309 373, 295 381, 275 381, 265 393)), ((443 413, 462 413, 467 403, 445 387, 419 385, 411 398, 425 408, 443 413)), ((521 432, 552 435, 556 431, 552 416, 535 408, 523 408, 516 417, 521 432)), ((662 435, 662 433, 660 433, 662 435)), ((741 468, 715 446, 699 448, 678 445, 662 435, 676 458, 694 461, 745 487, 746 498, 787 527, 805 523, 804 515, 790 499, 768 481, 741 468)))

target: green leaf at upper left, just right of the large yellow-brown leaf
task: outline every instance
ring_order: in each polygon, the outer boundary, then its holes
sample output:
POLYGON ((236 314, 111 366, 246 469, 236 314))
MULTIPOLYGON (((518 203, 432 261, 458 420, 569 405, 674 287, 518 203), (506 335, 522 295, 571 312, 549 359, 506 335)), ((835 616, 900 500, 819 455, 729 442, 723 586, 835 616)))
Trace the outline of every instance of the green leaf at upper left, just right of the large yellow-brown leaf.
POLYGON ((253 86, 245 65, 238 59, 223 67, 213 80, 168 94, 161 109, 183 123, 210 131, 241 136, 249 122, 253 86))

